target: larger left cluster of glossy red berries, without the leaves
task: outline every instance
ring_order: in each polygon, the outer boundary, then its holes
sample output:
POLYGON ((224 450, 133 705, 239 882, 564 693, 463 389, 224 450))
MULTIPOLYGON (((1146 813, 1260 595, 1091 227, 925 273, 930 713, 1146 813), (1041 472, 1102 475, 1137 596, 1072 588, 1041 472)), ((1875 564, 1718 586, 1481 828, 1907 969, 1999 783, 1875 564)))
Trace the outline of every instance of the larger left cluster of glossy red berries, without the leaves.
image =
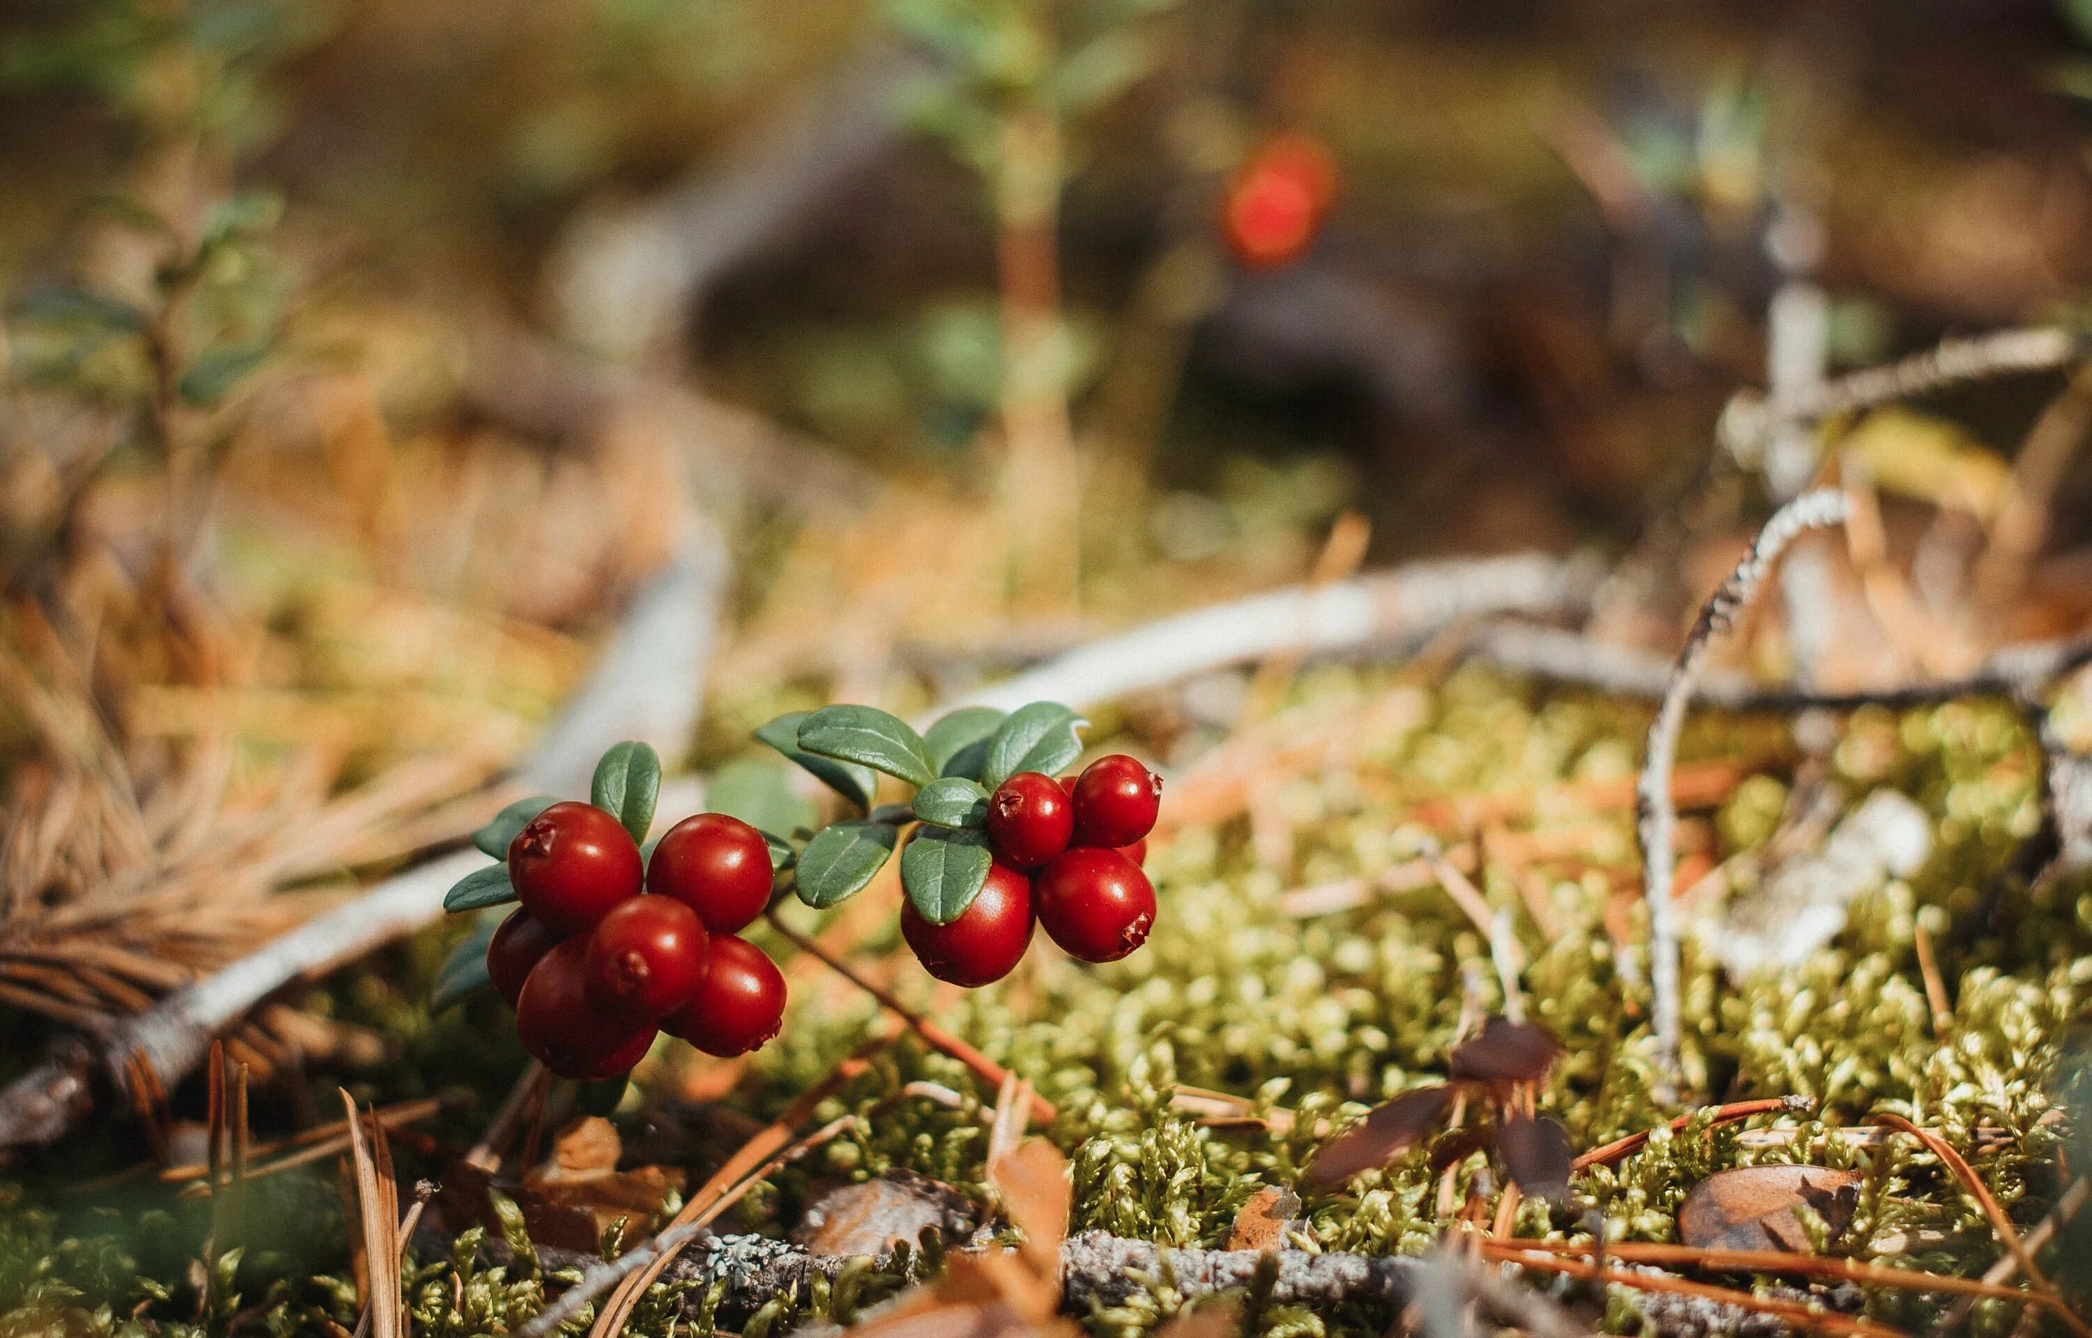
POLYGON ((736 937, 770 903, 770 847, 738 817, 684 817, 642 859, 611 813, 554 803, 508 845, 508 878, 523 905, 487 974, 552 1072, 619 1077, 657 1029, 715 1056, 778 1033, 784 976, 736 937))

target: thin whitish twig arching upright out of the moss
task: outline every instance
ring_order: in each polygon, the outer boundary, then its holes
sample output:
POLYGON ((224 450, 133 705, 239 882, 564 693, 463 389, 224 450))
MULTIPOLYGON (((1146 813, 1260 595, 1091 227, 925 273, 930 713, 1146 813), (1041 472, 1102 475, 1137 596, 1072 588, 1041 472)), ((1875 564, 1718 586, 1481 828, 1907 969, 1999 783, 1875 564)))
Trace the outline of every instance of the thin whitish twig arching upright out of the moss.
POLYGON ((1642 889, 1648 897, 1648 976, 1655 991, 1657 1054, 1663 1077, 1680 1079, 1678 1068, 1678 922, 1672 905, 1674 851, 1672 832, 1678 811, 1672 807, 1672 763, 1678 755, 1678 732, 1692 700, 1692 686, 1707 661, 1715 633, 1726 631, 1751 602, 1766 573, 1787 546, 1812 529, 1828 529, 1845 521, 1845 493, 1818 489, 1803 493, 1776 510, 1759 531, 1736 571, 1713 592, 1686 636, 1669 684, 1648 723, 1648 748, 1636 782, 1638 834, 1642 840, 1642 889))

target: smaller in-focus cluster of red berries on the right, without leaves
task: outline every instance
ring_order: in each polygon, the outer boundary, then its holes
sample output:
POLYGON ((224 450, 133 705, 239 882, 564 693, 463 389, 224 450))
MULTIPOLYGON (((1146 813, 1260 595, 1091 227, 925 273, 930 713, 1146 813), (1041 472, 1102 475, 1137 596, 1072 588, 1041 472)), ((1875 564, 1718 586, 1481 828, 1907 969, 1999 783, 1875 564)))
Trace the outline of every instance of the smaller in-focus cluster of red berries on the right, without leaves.
POLYGON ((1123 753, 1067 780, 1010 776, 987 799, 994 863, 979 895, 950 924, 904 907, 902 937, 929 974, 969 989, 1006 976, 1033 924, 1071 958, 1117 962, 1155 924, 1140 863, 1161 794, 1161 776, 1123 753))

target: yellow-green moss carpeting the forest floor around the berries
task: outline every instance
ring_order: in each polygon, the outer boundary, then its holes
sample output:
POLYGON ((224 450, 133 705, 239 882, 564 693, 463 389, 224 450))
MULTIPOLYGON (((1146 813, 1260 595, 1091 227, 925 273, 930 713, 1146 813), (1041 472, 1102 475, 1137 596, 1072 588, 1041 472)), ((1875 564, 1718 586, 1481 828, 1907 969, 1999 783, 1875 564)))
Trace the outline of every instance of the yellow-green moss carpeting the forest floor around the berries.
MULTIPOLYGON (((1071 1229, 1224 1244, 1257 1187, 1299 1183, 1318 1133, 1326 1137, 1374 1102, 1443 1077, 1460 1029, 1502 1008, 1490 943, 1475 922, 1433 882, 1377 891, 1318 916, 1297 914, 1284 893, 1372 880, 1427 840, 1473 836, 1471 822, 1448 813, 1487 811, 1504 832, 1554 832, 1556 840, 1542 845, 1569 851, 1527 868, 1485 857, 1475 874, 1490 905, 1513 914, 1527 958, 1527 1014, 1565 1047, 1540 1093, 1542 1110, 1569 1127, 1579 1150, 1674 1114, 1651 1100, 1657 1070, 1632 811, 1607 799, 1632 778, 1644 728, 1640 709, 1477 669, 1435 679, 1414 669, 1303 675, 1284 711, 1251 736, 1272 744, 1270 757, 1287 759, 1268 767, 1255 811, 1192 822, 1153 853, 1163 922, 1146 951, 1105 968, 1038 951, 1010 981, 939 1014, 1059 1106, 1052 1137, 1073 1167, 1071 1229), (1328 732, 1326 721, 1345 728, 1328 732), (1324 742, 1289 753, 1278 746, 1289 738, 1324 742), (1531 909, 1536 889, 1554 920, 1548 930, 1531 909), (1203 1125, 1172 1104, 1178 1085, 1238 1093, 1295 1118, 1291 1129, 1203 1125)), ((1743 780, 1697 811, 1705 822, 1695 830, 1711 859, 1772 838, 1797 755, 1778 719, 1692 721, 1686 763, 1743 765, 1743 780)), ((1843 719, 1828 778, 1851 797, 1877 786, 1914 797, 1935 826, 1931 859, 1912 878, 1862 895, 1835 943, 1795 970, 1736 983, 1690 945, 1686 953, 1695 1100, 1801 1095, 1816 1102, 1816 1114, 1659 1133, 1619 1164, 1584 1173, 1569 1204, 1527 1200, 1517 1233, 1569 1240, 1602 1217, 1611 1240, 1676 1240, 1674 1215, 1699 1179, 1734 1164, 1807 1160, 1864 1177, 1854 1221, 1822 1248, 1960 1275, 1992 1265, 2002 1254, 1996 1233, 1933 1156, 1908 1139, 1866 1146, 1830 1129, 1877 1112, 1935 1127, 2021 1223, 2036 1221, 2061 1192, 2059 1148, 2069 1125, 2052 1110, 2071 1024, 2092 991, 2092 928, 2079 914, 2082 880, 2029 891, 2006 874, 2040 822, 2038 763, 2031 736, 2000 702, 1843 719), (1937 947, 1950 995, 1943 1018, 1927 999, 1920 926, 1937 947), (1741 1133, 1774 1125, 1791 1135, 1768 1141, 1741 1133)), ((864 951, 889 947, 897 941, 874 937, 864 951)), ((502 1039, 498 1010, 471 1006, 431 1018, 416 1004, 439 955, 431 937, 337 983, 322 1004, 400 1043, 393 1064, 360 1075, 358 1095, 400 1100, 460 1081, 477 1087, 477 1106, 429 1127, 439 1141, 462 1146, 483 1127, 521 1054, 502 1039)), ((900 981, 927 995, 927 983, 900 981)), ((864 1039, 872 1004, 828 985, 797 993, 782 1041, 761 1052, 726 1100, 732 1110, 774 1116, 864 1039)), ((674 1085, 659 1062, 640 1079, 628 1098, 632 1125, 649 1125, 649 1104, 667 1102, 674 1085)), ((983 1102, 994 1104, 994 1093, 960 1064, 914 1041, 889 1047, 818 1112, 833 1118, 877 1106, 877 1118, 774 1175, 741 1206, 736 1229, 780 1236, 816 1183, 891 1169, 985 1196, 983 1102), (960 1106, 902 1095, 910 1081, 941 1083, 960 1093, 960 1106)), ((119 1133, 88 1137, 115 1146, 119 1133)), ((705 1154, 690 1156, 695 1169, 709 1169, 705 1154)), ((441 1173, 439 1158, 423 1164, 412 1148, 400 1150, 400 1162, 404 1177, 441 1173)), ((8 1192, 0 1206, 0 1330, 339 1336, 356 1323, 347 1213, 328 1167, 257 1183, 236 1221, 215 1223, 209 1254, 209 1202, 138 1183, 82 1194, 29 1175, 8 1192)), ((1452 1202, 1464 1204, 1469 1190, 1494 1194, 1479 1156, 1456 1171, 1452 1202)), ((1414 1254, 1450 1225, 1439 1175, 1423 1154, 1303 1194, 1301 1248, 1414 1254)), ((640 1229, 634 1223, 621 1240, 640 1229)), ((473 1238, 460 1238, 450 1254, 414 1254, 406 1292, 416 1332, 502 1332, 538 1311, 548 1279, 521 1225, 513 1221, 508 1233, 515 1250, 502 1265, 479 1256, 473 1238)), ((741 1332, 768 1338, 814 1315, 847 1317, 927 1267, 935 1267, 935 1250, 860 1269, 847 1286, 778 1298, 741 1332)), ((692 1319, 680 1300, 653 1296, 632 1330, 649 1338, 667 1338, 672 1325, 678 1334, 707 1330, 709 1311, 699 1307, 692 1319)), ((1157 1279, 1134 1302, 1084 1321, 1100 1336, 1132 1336, 1180 1305, 1169 1282, 1157 1279)), ((1916 1330, 1937 1313, 1929 1298, 1895 1292, 1874 1292, 1866 1307, 1881 1321, 1916 1330)), ((1366 1307, 1264 1307, 1253 1315, 1259 1334, 1314 1338, 1379 1334, 1389 1321, 1366 1307)), ((2008 1334, 2019 1307, 1983 1302, 1971 1323, 1985 1338, 2008 1334)), ((1640 1328, 1634 1298, 1617 1288, 1607 1328, 1640 1328)))

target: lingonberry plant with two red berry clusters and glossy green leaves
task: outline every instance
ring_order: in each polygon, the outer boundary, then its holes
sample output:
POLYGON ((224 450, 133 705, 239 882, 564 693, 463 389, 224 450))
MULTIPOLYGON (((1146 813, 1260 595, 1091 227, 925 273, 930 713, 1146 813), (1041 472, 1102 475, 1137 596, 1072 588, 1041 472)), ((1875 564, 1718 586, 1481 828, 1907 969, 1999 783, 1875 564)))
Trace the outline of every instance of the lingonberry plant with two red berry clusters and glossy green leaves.
POLYGON ((755 736, 858 815, 784 838, 697 813, 644 847, 661 763, 617 744, 588 803, 523 799, 473 834, 500 863, 464 876, 444 907, 521 905, 452 955, 437 1006, 492 985, 525 1049, 579 1081, 621 1077, 659 1031, 747 1054, 782 1024, 784 976, 738 930, 787 893, 820 909, 856 897, 895 851, 902 937, 939 981, 1000 981, 1038 924, 1071 958, 1117 962, 1155 924, 1140 859, 1161 778, 1111 755, 1054 780, 1084 723, 1056 702, 969 707, 927 734, 872 707, 780 715, 755 736), (879 805, 881 771, 914 797, 879 805))

